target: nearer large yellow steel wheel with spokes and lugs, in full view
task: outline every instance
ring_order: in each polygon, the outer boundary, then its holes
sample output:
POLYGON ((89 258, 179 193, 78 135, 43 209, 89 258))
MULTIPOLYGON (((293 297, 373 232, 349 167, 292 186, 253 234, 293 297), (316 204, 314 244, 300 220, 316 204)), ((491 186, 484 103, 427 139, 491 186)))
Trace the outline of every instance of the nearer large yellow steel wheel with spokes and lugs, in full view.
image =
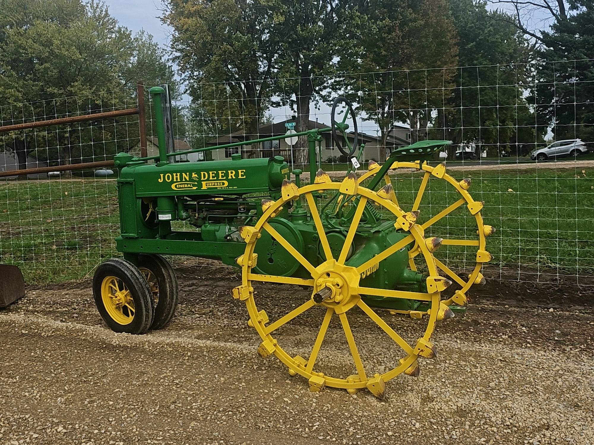
MULTIPOLYGON (((356 390, 366 388, 374 393, 374 395, 382 398, 385 383, 388 380, 393 379, 401 373, 416 376, 419 373, 418 358, 435 357, 435 349, 431 344, 430 338, 435 329, 435 322, 441 309, 441 290, 447 287, 450 281, 438 275, 433 256, 429 252, 428 247, 426 247, 422 229, 415 224, 416 215, 410 212, 403 212, 402 209, 394 205, 389 199, 382 198, 372 190, 357 186, 354 174, 350 174, 342 183, 323 182, 301 188, 285 181, 282 187, 282 196, 281 199, 274 203, 267 202, 263 216, 254 227, 245 226, 241 228, 241 236, 247 245, 244 255, 238 259, 238 263, 242 268, 242 284, 233 290, 233 297, 245 301, 247 305, 250 317, 248 324, 257 330, 262 339, 258 353, 263 357, 271 354, 276 355, 289 368, 290 374, 300 374, 308 379, 309 389, 312 391, 321 390, 324 386, 344 388, 349 392, 356 392, 356 390), (336 255, 337 258, 335 258, 330 249, 323 222, 318 212, 315 192, 340 192, 347 196, 349 201, 351 197, 355 198, 356 208, 354 216, 346 235, 344 247, 339 255, 336 255), (307 200, 311 218, 317 230, 317 236, 319 237, 324 255, 327 258, 325 262, 318 266, 309 263, 268 222, 277 214, 283 205, 299 196, 307 200), (393 215, 393 219, 396 220, 396 227, 404 230, 408 235, 361 265, 346 265, 350 244, 355 237, 365 206, 368 203, 374 203, 390 212, 393 215), (301 263, 305 270, 308 271, 308 278, 260 275, 252 272, 252 269, 257 264, 257 255, 254 255, 254 249, 263 231, 267 231, 293 258, 301 263), (383 259, 386 259, 388 256, 415 241, 420 246, 419 258, 424 258, 426 262, 429 293, 361 287, 359 279, 364 272, 374 268, 383 259), (305 303, 270 322, 266 312, 259 310, 257 306, 257 300, 262 303, 266 302, 267 290, 266 285, 264 285, 266 282, 299 285, 307 288, 311 297, 305 303), (259 285, 263 286, 262 291, 255 290, 259 285), (256 297, 256 294, 258 294, 258 297, 256 297), (413 298, 415 300, 425 301, 430 307, 430 316, 425 319, 426 324, 423 324, 424 322, 421 321, 417 325, 417 327, 422 327, 420 331, 421 335, 415 335, 413 341, 407 341, 379 313, 371 309, 362 300, 361 295, 374 295, 385 298, 413 298), (293 347, 290 348, 293 350, 289 348, 287 350, 283 349, 283 336, 278 335, 278 330, 307 311, 318 311, 320 315, 321 313, 324 315, 317 337, 311 345, 311 349, 309 349, 311 352, 309 352, 309 357, 306 360, 302 355, 295 354, 295 348, 293 347), (321 365, 320 360, 318 360, 321 346, 333 317, 339 319, 348 345, 350 359, 352 359, 354 365, 346 366, 353 366, 350 370, 352 371, 353 368, 356 369, 356 374, 347 376, 348 373, 337 371, 337 376, 331 375, 330 373, 333 372, 333 368, 328 372, 327 367, 321 365), (351 321, 356 320, 357 323, 352 325, 349 319, 351 321), (366 319, 366 322, 377 325, 376 328, 382 330, 391 339, 393 342, 392 345, 401 349, 400 354, 397 354, 401 357, 399 360, 395 361, 393 357, 390 357, 390 360, 386 362, 389 366, 377 365, 376 367, 376 364, 380 361, 380 357, 366 357, 365 352, 368 351, 365 349, 361 349, 360 351, 358 342, 356 341, 357 335, 356 333, 353 335, 352 326, 353 328, 358 328, 359 320, 361 319, 366 319)), ((290 303, 293 303, 293 301, 286 301, 287 306, 290 306, 290 303)), ((281 312, 284 313, 284 311, 281 312)), ((394 355, 392 350, 390 350, 390 355, 394 355)), ((326 358, 327 362, 328 359, 326 358)))

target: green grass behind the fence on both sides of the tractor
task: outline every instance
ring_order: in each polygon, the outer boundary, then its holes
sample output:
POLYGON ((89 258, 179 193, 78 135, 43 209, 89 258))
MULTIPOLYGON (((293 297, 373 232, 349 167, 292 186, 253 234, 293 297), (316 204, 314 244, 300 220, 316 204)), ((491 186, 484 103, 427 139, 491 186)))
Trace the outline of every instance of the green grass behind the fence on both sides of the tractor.
MULTIPOLYGON (((494 265, 576 274, 594 271, 594 169, 584 172, 541 168, 452 174, 472 177, 470 193, 476 201, 485 201, 485 224, 497 228, 487 240, 494 265)), ((393 178, 403 208, 414 202, 421 177, 409 172, 393 178)), ((432 178, 420 222, 457 199, 453 187, 432 178)), ((0 184, 0 263, 20 266, 30 284, 84 278, 94 266, 118 255, 118 234, 114 181, 0 184)), ((434 224, 426 236, 472 239, 476 223, 463 206, 434 224)), ((464 268, 472 264, 475 250, 443 246, 437 256, 464 268)))

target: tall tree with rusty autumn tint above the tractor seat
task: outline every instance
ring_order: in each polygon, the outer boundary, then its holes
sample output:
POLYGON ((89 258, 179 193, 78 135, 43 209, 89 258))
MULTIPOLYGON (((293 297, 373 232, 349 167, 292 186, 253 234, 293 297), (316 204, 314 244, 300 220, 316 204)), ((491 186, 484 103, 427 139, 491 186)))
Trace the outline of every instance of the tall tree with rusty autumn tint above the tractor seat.
POLYGON ((440 88, 451 82, 451 71, 444 76, 443 69, 427 68, 456 66, 455 29, 441 0, 371 0, 362 12, 358 45, 342 63, 345 71, 369 73, 347 75, 347 90, 363 119, 380 129, 385 160, 396 122, 410 122, 412 142, 425 138, 432 110, 442 103, 440 88))

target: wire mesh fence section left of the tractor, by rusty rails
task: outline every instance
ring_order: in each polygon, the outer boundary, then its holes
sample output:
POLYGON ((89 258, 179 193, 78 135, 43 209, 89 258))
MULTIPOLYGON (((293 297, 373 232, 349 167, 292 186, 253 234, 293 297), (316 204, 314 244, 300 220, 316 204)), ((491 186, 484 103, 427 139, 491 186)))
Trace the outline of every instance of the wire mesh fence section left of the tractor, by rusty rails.
MULTIPOLYGON (((118 90, 0 106, 0 126, 127 110, 137 107, 136 94, 118 90)), ((0 171, 105 161, 136 150, 139 141, 138 116, 2 132, 0 171)), ((111 167, 0 178, 0 262, 20 266, 34 284, 81 278, 115 255, 115 176, 111 167)))

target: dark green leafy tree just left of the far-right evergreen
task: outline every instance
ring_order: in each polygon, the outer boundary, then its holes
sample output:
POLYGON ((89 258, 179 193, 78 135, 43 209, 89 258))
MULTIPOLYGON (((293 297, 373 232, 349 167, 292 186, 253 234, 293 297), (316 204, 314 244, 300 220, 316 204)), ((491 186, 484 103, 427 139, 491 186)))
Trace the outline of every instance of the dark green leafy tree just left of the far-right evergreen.
POLYGON ((479 141, 497 154, 509 144, 517 145, 519 134, 526 136, 517 131, 517 125, 532 113, 525 97, 530 43, 501 11, 487 11, 473 0, 448 3, 462 68, 454 70, 454 88, 443 92, 445 103, 437 109, 437 125, 431 133, 453 141, 450 155, 461 142, 479 141))

